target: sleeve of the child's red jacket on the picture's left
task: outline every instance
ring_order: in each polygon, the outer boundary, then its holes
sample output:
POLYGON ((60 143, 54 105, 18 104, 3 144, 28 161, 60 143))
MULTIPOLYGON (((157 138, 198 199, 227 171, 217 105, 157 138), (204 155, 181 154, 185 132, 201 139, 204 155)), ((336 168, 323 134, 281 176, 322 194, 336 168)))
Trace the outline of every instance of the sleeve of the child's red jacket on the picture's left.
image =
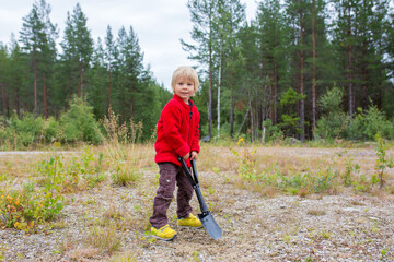
POLYGON ((169 105, 164 107, 162 112, 164 136, 167 144, 178 156, 184 156, 190 152, 190 147, 183 140, 181 130, 181 110, 175 106, 169 105))

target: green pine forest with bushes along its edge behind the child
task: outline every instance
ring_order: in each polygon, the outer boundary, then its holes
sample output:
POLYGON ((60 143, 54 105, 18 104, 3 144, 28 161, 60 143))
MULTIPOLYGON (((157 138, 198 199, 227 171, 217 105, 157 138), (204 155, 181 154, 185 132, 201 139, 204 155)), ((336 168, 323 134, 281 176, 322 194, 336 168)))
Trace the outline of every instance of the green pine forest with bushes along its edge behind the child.
MULTIPOLYGON (((185 4, 193 43, 179 38, 200 78, 201 138, 394 139, 390 0, 263 0, 251 21, 240 0, 185 4)), ((100 144, 112 117, 128 141, 150 140, 172 92, 143 64, 132 25, 107 25, 93 39, 80 4, 63 32, 50 11, 35 1, 10 44, 0 43, 2 147, 100 144)))

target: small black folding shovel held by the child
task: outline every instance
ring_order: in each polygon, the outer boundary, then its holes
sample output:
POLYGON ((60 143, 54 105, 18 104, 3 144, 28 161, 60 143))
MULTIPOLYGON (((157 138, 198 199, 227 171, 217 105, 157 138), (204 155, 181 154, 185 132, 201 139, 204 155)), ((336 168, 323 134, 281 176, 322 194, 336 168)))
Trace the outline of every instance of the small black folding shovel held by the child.
POLYGON ((196 169, 196 163, 194 159, 192 159, 192 169, 193 169, 193 175, 194 178, 190 174, 190 170, 187 168, 186 163, 184 160, 184 158, 178 157, 178 160, 181 162, 181 165, 183 167, 183 169, 186 172, 186 176, 188 178, 188 180, 190 181, 194 190, 196 191, 196 195, 198 199, 198 203, 200 205, 200 210, 202 212, 202 214, 198 214, 198 218, 201 221, 204 228, 207 230, 207 233, 209 234, 209 236, 211 236, 215 240, 221 238, 222 236, 222 230, 221 228, 218 226, 218 224, 216 223, 216 221, 213 219, 213 216, 211 215, 211 213, 208 211, 206 203, 204 202, 202 199, 202 193, 199 187, 199 182, 198 182, 198 176, 197 176, 197 169, 196 169))

